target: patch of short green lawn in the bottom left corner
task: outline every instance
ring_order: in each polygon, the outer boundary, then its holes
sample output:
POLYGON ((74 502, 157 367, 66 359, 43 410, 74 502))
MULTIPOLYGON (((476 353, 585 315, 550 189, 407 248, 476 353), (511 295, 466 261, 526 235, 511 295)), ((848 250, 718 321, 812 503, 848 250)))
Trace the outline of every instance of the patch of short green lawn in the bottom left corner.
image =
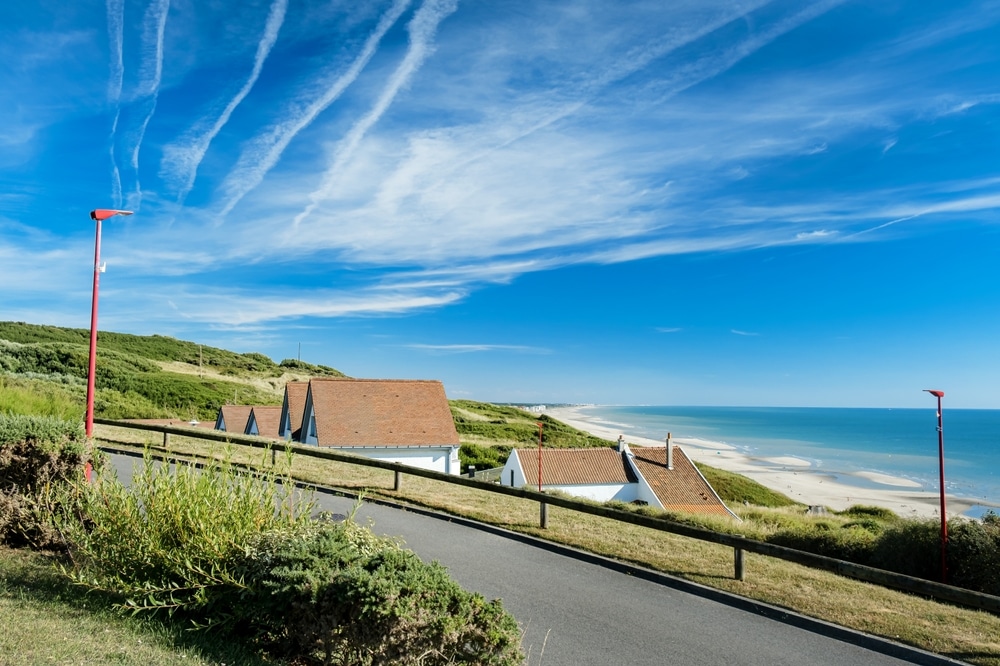
POLYGON ((51 554, 0 548, 0 663, 265 666, 248 646, 210 632, 123 617, 74 587, 51 554))

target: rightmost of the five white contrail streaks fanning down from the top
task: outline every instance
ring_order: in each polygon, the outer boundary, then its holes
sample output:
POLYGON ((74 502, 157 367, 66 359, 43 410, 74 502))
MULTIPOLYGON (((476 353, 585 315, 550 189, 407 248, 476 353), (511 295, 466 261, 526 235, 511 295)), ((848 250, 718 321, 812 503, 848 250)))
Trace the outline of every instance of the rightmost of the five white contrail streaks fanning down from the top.
POLYGON ((438 25, 456 9, 458 9, 457 0, 425 0, 424 4, 417 10, 416 15, 408 26, 410 47, 407 49, 403 61, 396 68, 396 71, 393 72, 388 85, 386 85, 382 94, 375 102, 375 106, 361 120, 354 124, 354 127, 351 128, 347 136, 344 137, 343 141, 337 147, 333 163, 326 170, 322 184, 318 190, 309 195, 310 203, 306 206, 305 210, 295 216, 295 220, 292 223, 293 227, 298 227, 303 220, 316 210, 321 201, 333 195, 337 179, 340 177, 344 165, 353 156, 355 149, 361 143, 368 130, 378 122, 382 114, 385 113, 385 110, 389 108, 400 88, 406 85, 410 77, 413 76, 413 73, 423 65, 424 60, 430 55, 433 48, 432 42, 438 25))

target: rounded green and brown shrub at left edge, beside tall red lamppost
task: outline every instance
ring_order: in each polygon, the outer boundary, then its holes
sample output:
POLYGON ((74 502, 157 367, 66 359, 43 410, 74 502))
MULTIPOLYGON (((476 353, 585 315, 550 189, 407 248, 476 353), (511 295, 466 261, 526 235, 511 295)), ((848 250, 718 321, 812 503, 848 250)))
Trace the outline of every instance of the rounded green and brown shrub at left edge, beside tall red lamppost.
POLYGON ((53 493, 78 479, 92 450, 79 422, 0 414, 0 542, 53 547, 53 493))

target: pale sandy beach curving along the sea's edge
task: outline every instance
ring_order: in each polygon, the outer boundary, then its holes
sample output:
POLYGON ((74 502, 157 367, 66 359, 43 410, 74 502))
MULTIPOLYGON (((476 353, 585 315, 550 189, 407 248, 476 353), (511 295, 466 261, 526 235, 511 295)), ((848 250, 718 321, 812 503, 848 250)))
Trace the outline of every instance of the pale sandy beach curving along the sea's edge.
MULTIPOLYGON (((617 441, 622 434, 612 424, 602 423, 580 407, 550 408, 546 413, 567 425, 603 439, 617 441)), ((625 441, 640 446, 664 446, 663 441, 631 435, 626 435, 625 441)), ((719 442, 682 438, 671 441, 684 449, 695 462, 742 474, 803 504, 826 506, 837 511, 855 504, 881 506, 910 518, 933 518, 940 515, 938 493, 922 491, 919 484, 909 479, 876 472, 857 472, 853 476, 858 477, 860 485, 852 485, 845 482, 843 476, 834 478, 812 469, 809 461, 791 456, 754 458, 719 442), (872 483, 884 488, 872 488, 872 483)), ((948 496, 949 520, 967 511, 972 505, 967 500, 948 496)))

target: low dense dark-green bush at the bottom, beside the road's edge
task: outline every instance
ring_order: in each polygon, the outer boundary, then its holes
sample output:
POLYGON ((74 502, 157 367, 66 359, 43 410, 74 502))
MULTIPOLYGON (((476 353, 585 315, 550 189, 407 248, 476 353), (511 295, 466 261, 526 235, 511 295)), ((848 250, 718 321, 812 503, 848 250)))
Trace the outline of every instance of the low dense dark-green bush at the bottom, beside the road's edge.
POLYGON ((466 592, 439 564, 348 520, 265 537, 248 562, 244 618, 271 651, 323 663, 436 666, 523 662, 499 601, 466 592))

